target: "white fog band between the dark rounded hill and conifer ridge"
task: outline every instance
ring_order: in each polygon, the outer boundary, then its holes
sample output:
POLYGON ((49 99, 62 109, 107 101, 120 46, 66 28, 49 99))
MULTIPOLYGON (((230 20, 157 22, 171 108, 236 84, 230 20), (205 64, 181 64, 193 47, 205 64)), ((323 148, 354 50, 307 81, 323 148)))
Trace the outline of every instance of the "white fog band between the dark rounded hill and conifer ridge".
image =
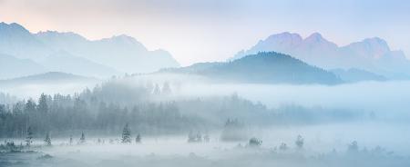
POLYGON ((269 84, 190 84, 181 95, 238 93, 269 107, 294 103, 306 107, 364 109, 385 113, 410 111, 410 82, 365 82, 334 86, 269 84))

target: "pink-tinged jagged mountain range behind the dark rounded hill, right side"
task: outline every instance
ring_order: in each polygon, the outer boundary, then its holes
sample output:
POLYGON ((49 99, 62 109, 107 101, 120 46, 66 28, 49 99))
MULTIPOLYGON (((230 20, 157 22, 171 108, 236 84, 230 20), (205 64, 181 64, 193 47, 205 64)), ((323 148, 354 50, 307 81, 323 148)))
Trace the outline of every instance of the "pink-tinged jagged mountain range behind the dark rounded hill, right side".
POLYGON ((275 51, 292 56, 327 70, 336 68, 360 69, 381 74, 389 79, 409 79, 410 61, 403 51, 393 51, 381 38, 367 38, 361 42, 338 46, 314 33, 306 38, 300 34, 272 34, 248 50, 242 50, 230 60, 262 51, 275 51))

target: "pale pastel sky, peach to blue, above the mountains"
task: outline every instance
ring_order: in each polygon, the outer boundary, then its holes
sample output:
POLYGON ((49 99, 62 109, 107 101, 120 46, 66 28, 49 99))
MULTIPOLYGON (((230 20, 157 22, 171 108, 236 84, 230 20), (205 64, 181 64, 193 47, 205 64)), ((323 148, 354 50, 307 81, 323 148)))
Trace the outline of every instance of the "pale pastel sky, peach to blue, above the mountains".
POLYGON ((88 39, 128 34, 183 65, 225 60, 284 31, 339 45, 379 36, 410 55, 406 0, 0 0, 0 21, 88 39))

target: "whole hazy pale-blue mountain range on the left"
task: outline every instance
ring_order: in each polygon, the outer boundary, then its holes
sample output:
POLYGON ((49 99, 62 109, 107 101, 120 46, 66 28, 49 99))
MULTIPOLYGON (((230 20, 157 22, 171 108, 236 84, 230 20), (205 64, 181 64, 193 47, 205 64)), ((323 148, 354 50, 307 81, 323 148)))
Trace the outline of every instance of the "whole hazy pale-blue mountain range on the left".
POLYGON ((2 72, 13 72, 0 74, 1 78, 50 71, 108 77, 179 66, 167 51, 149 51, 125 34, 88 40, 75 33, 46 31, 33 34, 15 23, 0 23, 0 59, 0 64, 14 67, 0 66, 2 72))

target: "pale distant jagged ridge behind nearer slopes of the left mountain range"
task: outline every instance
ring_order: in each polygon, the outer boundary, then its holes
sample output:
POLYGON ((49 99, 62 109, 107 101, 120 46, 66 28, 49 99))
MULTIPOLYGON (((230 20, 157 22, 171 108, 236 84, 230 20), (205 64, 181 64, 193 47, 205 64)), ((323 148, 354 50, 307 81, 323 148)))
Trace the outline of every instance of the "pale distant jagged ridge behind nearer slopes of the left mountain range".
POLYGON ((97 64, 105 64, 121 72, 148 73, 160 68, 178 67, 178 62, 163 50, 149 51, 128 35, 90 41, 74 33, 40 32, 37 39, 56 49, 64 50, 97 64))

